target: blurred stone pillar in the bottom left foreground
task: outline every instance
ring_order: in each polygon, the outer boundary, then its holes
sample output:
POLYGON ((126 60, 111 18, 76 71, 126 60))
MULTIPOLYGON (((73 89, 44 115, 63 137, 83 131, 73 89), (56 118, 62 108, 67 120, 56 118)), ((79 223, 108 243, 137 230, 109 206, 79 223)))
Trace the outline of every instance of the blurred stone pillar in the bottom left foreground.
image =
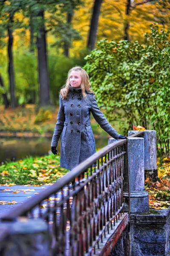
MULTIPOLYGON (((0 241, 1 256, 49 256, 48 225, 42 219, 18 218, 13 222, 1 222, 0 230, 6 230, 0 241)), ((2 232, 1 232, 2 233, 2 232)))

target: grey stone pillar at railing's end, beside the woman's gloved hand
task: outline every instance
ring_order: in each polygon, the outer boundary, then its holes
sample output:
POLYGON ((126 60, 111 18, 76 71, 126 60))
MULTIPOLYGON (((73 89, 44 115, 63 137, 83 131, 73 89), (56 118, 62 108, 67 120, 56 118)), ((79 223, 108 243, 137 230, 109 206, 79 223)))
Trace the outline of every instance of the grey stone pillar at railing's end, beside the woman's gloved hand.
MULTIPOLYGON (((115 142, 109 139, 109 144, 115 142)), ((128 169, 124 170, 124 198, 125 211, 129 211, 130 186, 130 212, 146 212, 149 209, 148 193, 144 190, 144 138, 129 138, 128 140, 128 162, 130 184, 128 184, 128 169), (128 186, 129 185, 129 186, 128 186)))

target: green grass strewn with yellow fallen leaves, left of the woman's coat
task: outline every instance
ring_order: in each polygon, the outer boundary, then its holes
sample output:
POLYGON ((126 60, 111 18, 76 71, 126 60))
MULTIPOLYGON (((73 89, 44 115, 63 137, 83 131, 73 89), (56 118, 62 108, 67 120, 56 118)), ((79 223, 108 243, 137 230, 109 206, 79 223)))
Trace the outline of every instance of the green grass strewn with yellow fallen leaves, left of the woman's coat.
POLYGON ((66 175, 68 170, 60 167, 60 155, 27 157, 0 166, 0 184, 45 184, 66 175))

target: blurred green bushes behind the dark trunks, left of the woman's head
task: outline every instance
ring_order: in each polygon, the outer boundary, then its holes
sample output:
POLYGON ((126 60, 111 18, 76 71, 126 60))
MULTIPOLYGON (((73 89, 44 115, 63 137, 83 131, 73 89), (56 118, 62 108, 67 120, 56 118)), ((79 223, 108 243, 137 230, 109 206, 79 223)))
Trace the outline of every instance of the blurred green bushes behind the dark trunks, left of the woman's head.
MULTIPOLYGON (((54 53, 48 56, 49 66, 49 87, 51 103, 58 104, 58 96, 61 87, 66 81, 67 73, 75 65, 83 66, 86 63, 84 56, 81 58, 66 58, 64 55, 54 53)), ((21 53, 14 52, 14 72, 16 80, 16 100, 18 105, 38 104, 39 102, 39 83, 37 72, 37 56, 28 51, 21 53)), ((9 91, 9 78, 6 73, 6 61, 1 63, 0 73, 3 76, 6 92, 9 91)), ((0 89, 0 94, 3 91, 0 89)), ((10 95, 8 95, 10 98, 10 95)), ((3 104, 1 97, 0 104, 3 104)))

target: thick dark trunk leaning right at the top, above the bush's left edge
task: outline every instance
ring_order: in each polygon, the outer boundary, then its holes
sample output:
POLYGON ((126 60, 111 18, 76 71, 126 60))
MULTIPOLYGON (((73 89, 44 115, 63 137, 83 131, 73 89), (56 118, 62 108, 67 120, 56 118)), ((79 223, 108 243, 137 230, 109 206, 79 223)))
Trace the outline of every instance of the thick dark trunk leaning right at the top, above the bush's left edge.
POLYGON ((93 6, 92 19, 90 22, 90 30, 89 30, 89 39, 87 44, 87 48, 89 48, 90 50, 93 50, 95 48, 95 41, 96 41, 97 31, 98 31, 98 20, 100 16, 102 2, 103 0, 95 0, 94 6, 93 6))

